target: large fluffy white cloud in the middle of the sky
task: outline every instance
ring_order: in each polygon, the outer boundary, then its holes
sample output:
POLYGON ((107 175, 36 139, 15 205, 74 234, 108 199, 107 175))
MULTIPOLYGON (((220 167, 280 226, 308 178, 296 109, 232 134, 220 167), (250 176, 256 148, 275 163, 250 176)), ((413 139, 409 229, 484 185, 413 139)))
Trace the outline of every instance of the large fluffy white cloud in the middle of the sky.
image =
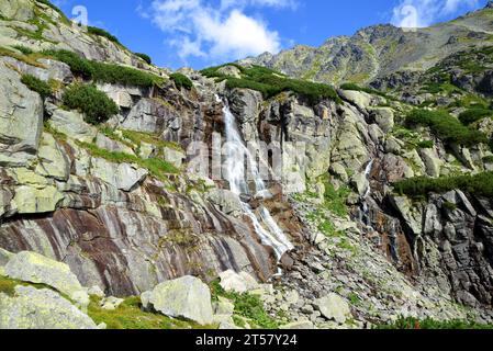
POLYGON ((280 50, 276 31, 246 14, 247 8, 295 9, 295 0, 154 0, 141 14, 150 19, 183 59, 238 59, 280 50))

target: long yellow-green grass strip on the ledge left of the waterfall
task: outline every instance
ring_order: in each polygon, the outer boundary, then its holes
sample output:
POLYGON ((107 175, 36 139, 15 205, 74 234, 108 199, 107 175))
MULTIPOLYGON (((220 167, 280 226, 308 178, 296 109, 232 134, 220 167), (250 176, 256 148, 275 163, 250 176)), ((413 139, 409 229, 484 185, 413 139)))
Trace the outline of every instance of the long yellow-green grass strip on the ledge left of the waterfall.
POLYGON ((141 159, 134 155, 101 149, 94 144, 81 141, 77 141, 77 144, 93 157, 99 157, 114 163, 136 163, 139 167, 147 169, 153 177, 159 180, 167 180, 167 176, 177 174, 179 172, 175 166, 163 159, 141 159))

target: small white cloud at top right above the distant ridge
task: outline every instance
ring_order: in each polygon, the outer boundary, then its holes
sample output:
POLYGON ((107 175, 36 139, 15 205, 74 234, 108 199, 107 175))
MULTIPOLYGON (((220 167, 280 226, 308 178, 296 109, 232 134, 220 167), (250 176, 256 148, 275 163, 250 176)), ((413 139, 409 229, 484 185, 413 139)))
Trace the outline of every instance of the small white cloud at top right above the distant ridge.
POLYGON ((472 9, 478 0, 402 0, 393 9, 392 24, 401 27, 423 27, 456 13, 472 9))

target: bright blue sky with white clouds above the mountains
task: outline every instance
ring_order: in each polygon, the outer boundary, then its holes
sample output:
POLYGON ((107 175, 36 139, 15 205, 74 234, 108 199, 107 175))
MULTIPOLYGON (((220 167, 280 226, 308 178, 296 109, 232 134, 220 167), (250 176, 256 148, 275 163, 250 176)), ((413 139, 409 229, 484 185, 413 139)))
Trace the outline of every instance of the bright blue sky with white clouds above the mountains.
POLYGON ((484 7, 488 0, 54 0, 74 18, 116 35, 155 64, 203 68, 296 44, 392 23, 426 26, 484 7))

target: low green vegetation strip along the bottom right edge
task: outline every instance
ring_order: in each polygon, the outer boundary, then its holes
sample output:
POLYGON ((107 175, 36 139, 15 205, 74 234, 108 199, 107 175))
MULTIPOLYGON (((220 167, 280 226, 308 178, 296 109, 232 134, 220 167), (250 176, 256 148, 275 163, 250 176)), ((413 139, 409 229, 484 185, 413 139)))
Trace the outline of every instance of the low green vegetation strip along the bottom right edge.
POLYGON ((388 325, 379 325, 376 329, 447 329, 447 330, 457 330, 457 329, 493 329, 492 325, 482 325, 474 321, 468 320, 447 320, 439 321, 432 318, 426 318, 423 320, 416 318, 403 318, 401 317, 397 321, 388 324, 388 325))

